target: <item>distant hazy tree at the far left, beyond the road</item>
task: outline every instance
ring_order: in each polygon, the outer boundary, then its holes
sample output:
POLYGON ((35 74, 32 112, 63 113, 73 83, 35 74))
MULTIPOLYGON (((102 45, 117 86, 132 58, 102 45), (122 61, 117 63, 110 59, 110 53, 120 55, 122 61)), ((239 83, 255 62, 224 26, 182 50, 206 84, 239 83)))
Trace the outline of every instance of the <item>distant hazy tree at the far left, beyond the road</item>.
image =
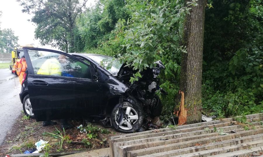
POLYGON ((18 36, 14 35, 14 31, 10 28, 0 30, 0 52, 11 53, 16 47, 18 36))

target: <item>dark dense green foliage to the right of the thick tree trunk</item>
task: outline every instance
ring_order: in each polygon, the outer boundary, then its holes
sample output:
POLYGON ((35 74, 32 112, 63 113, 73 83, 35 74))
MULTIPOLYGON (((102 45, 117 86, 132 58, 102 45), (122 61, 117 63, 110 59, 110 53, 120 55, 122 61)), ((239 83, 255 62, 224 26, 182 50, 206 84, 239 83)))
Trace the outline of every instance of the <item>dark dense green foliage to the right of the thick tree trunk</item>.
POLYGON ((262 4, 212 5, 205 17, 203 109, 219 117, 262 112, 262 4))

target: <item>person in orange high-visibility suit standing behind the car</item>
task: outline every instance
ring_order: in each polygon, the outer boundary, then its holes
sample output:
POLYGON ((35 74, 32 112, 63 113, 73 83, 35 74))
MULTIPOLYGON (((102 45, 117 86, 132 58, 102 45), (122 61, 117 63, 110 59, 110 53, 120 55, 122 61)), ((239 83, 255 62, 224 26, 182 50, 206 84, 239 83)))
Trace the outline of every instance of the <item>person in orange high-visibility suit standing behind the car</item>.
POLYGON ((27 70, 27 62, 25 61, 25 56, 23 55, 21 59, 18 59, 15 64, 13 65, 12 72, 18 75, 20 84, 22 84, 22 80, 25 74, 25 71, 27 70))

